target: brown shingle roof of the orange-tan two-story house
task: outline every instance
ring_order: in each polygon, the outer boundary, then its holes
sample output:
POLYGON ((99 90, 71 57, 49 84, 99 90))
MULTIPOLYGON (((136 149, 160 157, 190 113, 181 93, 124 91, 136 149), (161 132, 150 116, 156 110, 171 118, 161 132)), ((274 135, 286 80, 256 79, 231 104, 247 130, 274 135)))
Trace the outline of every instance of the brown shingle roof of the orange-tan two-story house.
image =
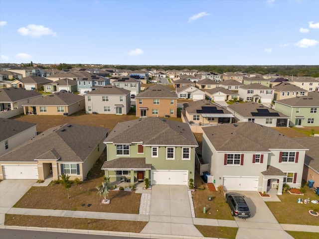
POLYGON ((143 92, 140 92, 136 97, 139 98, 149 98, 149 99, 161 99, 161 98, 168 98, 168 99, 177 99, 177 95, 174 92, 170 91, 170 88, 162 85, 154 85, 150 88, 146 89, 143 92))

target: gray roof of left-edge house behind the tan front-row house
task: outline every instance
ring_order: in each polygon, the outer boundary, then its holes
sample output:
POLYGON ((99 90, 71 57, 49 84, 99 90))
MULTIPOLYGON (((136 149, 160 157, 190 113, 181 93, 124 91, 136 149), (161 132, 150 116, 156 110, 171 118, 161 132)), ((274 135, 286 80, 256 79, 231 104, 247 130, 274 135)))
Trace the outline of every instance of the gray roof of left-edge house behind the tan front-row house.
POLYGON ((3 141, 15 134, 23 132, 35 126, 36 123, 28 123, 13 119, 2 119, 0 118, 0 141, 3 141))

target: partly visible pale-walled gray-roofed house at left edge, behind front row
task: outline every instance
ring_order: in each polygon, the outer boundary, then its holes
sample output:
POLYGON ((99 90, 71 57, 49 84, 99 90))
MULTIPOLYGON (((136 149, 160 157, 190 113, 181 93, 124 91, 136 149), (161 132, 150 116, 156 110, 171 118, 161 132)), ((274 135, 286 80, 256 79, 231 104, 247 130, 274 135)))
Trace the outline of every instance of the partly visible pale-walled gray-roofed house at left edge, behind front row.
POLYGON ((0 119, 0 156, 36 136, 36 124, 0 119))

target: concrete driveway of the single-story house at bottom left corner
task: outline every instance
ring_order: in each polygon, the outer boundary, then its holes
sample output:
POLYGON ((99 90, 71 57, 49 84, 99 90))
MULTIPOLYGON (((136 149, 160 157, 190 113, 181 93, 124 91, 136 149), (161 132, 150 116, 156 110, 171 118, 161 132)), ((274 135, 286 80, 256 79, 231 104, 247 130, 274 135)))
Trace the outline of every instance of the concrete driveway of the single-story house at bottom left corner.
POLYGON ((0 225, 4 214, 36 183, 36 180, 5 179, 0 182, 0 225))

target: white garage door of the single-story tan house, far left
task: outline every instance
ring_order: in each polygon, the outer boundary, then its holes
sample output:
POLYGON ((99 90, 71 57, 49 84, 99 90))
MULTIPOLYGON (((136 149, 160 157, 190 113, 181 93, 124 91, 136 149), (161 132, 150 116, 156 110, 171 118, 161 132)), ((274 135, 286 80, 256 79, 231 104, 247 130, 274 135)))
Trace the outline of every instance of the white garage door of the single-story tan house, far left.
POLYGON ((38 179, 37 165, 3 165, 4 179, 38 179))

